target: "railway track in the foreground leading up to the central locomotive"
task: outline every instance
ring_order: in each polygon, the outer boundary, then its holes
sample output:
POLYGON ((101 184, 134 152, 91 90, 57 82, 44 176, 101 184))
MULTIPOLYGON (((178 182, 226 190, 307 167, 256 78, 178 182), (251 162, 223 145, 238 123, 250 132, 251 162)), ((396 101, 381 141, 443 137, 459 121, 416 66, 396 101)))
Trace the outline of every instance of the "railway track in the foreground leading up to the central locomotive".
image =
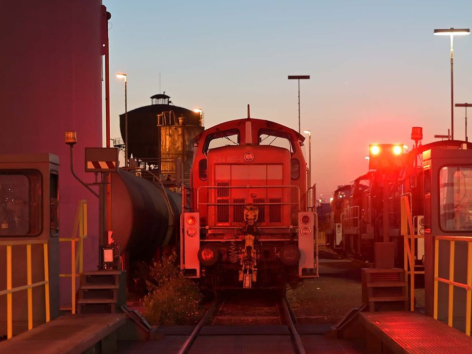
MULTIPOLYGON (((209 337, 216 338, 216 336, 226 344, 233 338, 240 345, 240 350, 236 350, 236 352, 247 351, 247 348, 258 352, 257 345, 262 345, 264 341, 270 342, 274 340, 275 336, 280 338, 281 335, 285 338, 290 337, 291 348, 289 350, 293 353, 306 353, 296 331, 289 302, 285 297, 281 298, 268 292, 236 291, 223 294, 213 301, 177 353, 203 351, 202 345, 199 345, 200 348, 196 348, 198 342, 203 342, 209 337), (236 339, 234 339, 235 337, 236 339)), ((282 344, 287 345, 287 343, 282 344)), ((217 340, 207 340, 207 344, 204 346, 205 351, 211 350, 212 345, 218 346, 217 340)), ((218 349, 222 351, 222 347, 218 349)), ((231 352, 226 353, 230 354, 231 352)))

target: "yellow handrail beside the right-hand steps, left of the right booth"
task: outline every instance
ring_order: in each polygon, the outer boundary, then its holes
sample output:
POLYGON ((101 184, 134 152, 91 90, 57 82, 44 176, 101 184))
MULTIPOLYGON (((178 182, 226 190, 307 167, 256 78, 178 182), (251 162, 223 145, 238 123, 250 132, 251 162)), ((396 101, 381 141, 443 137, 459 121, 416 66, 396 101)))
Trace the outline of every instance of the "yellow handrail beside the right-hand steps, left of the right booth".
POLYGON ((405 278, 408 281, 410 275, 410 311, 414 311, 414 276, 425 274, 424 271, 415 271, 414 269, 414 240, 424 238, 424 235, 414 235, 412 209, 410 207, 410 198, 407 195, 400 197, 400 233, 403 235, 403 269, 405 278))

